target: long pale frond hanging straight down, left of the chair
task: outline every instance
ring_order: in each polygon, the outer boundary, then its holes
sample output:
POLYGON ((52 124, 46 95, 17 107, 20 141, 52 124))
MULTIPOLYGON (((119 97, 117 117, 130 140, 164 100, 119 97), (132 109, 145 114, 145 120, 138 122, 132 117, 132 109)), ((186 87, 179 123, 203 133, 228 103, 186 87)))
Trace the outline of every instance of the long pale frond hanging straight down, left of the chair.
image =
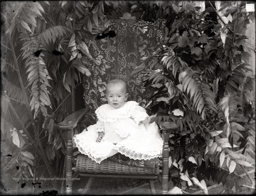
MULTIPOLYGON (((51 107, 50 92, 48 91, 48 87, 50 87, 48 80, 51 78, 41 55, 33 56, 26 66, 28 67, 26 71, 28 72, 28 86, 31 86, 30 107, 32 111, 34 110, 34 118, 36 118, 38 109, 51 107)), ((43 112, 43 114, 45 113, 43 112)))

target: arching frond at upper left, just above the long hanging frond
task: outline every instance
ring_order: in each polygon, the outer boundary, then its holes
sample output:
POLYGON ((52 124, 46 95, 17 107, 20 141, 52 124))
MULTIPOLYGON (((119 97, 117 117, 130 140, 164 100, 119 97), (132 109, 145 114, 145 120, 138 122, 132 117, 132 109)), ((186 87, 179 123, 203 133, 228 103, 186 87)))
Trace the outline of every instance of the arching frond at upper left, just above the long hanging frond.
POLYGON ((40 33, 38 39, 42 41, 43 45, 48 45, 50 42, 55 43, 57 38, 62 38, 67 32, 70 30, 65 26, 53 26, 40 33))

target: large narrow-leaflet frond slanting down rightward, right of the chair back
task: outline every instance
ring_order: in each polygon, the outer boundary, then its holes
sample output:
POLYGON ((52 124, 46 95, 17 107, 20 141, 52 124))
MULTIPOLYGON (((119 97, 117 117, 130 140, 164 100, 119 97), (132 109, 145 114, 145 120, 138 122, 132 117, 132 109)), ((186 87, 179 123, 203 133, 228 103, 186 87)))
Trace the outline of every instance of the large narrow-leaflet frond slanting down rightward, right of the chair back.
POLYGON ((189 94, 193 107, 198 114, 205 119, 206 109, 212 109, 217 112, 213 92, 210 87, 201 82, 192 71, 186 70, 178 75, 178 80, 183 86, 183 91, 189 94))

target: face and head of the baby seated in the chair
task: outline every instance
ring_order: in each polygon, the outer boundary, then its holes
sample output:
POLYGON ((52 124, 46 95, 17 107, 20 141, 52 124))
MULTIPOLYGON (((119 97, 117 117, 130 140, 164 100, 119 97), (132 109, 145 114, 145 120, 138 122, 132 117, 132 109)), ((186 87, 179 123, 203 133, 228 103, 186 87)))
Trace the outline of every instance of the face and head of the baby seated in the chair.
POLYGON ((127 100, 127 93, 124 85, 114 84, 107 87, 107 103, 115 109, 124 106, 127 100))

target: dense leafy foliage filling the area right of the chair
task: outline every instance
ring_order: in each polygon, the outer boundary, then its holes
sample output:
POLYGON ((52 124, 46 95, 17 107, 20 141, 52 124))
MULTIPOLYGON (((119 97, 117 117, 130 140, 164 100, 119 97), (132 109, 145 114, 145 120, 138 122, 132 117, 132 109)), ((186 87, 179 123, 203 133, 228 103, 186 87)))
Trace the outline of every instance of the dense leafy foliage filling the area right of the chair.
POLYGON ((213 180, 218 176, 218 183, 231 188, 237 182, 237 191, 239 178, 230 180, 230 173, 237 165, 255 166, 255 77, 244 35, 251 16, 242 12, 244 7, 228 2, 218 12, 210 3, 201 13, 190 2, 177 12, 173 7, 177 15, 167 26, 165 45, 134 71, 146 75, 157 121, 179 125, 171 134, 169 161, 188 186, 191 175, 199 177, 191 163, 208 179, 215 168, 213 180))

